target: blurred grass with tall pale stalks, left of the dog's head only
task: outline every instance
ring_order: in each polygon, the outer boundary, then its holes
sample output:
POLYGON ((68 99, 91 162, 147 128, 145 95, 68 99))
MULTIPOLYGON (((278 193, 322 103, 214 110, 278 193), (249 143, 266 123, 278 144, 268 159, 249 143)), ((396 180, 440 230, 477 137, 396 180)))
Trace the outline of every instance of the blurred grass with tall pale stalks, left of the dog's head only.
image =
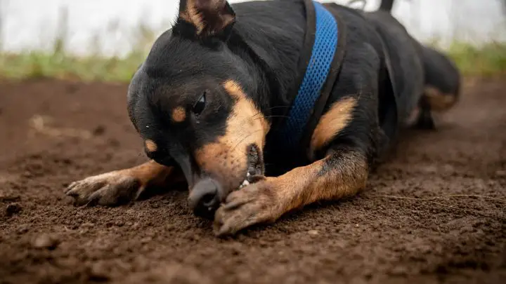
MULTIPOLYGON (((0 6, 1 6, 0 0, 0 6)), ((0 11, 1 12, 1 11, 0 11)), ((0 77, 9 79, 75 79, 81 81, 130 81, 131 76, 143 62, 150 44, 156 34, 147 25, 140 24, 131 30, 133 46, 128 55, 105 57, 100 55, 98 36, 91 40, 91 53, 79 57, 66 53, 68 39, 68 9, 63 7, 58 13, 58 30, 52 42, 51 51, 32 50, 22 53, 0 52, 0 77)), ((0 28, 1 28, 0 13, 0 28)), ((110 32, 115 32, 117 25, 110 23, 110 32)), ((1 46, 0 46, 1 48, 1 46)), ((1 50, 1 49, 0 49, 1 50)))

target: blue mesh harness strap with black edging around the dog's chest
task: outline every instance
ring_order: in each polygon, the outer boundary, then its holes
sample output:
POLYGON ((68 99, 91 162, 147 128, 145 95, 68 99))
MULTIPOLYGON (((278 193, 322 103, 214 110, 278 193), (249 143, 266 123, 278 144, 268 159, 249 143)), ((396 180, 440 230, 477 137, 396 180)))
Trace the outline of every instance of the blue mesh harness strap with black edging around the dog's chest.
MULTIPOLYGON (((302 148, 306 148, 308 139, 316 127, 330 95, 333 82, 337 78, 342 59, 341 52, 337 50, 344 50, 344 48, 338 48, 340 46, 338 41, 342 41, 342 36, 339 34, 339 21, 335 16, 316 1, 305 2, 306 14, 314 13, 314 42, 311 48, 311 58, 309 62, 304 62, 306 69, 297 95, 292 100, 287 118, 281 121, 276 135, 277 142, 287 153, 300 151, 301 143, 304 144, 302 148), (313 7, 309 7, 310 3, 313 7), (329 86, 330 88, 326 88, 329 86)), ((306 17, 309 18, 309 15, 306 17)), ((312 31, 306 31, 306 33, 308 32, 312 31)))

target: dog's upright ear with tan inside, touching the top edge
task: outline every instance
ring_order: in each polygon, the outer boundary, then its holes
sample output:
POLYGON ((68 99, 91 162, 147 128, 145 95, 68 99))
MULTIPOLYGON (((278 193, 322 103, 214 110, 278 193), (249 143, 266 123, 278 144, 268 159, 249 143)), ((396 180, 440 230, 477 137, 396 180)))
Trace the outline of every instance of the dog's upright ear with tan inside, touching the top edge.
POLYGON ((192 25, 198 37, 228 37, 235 13, 226 0, 181 0, 178 21, 192 25))

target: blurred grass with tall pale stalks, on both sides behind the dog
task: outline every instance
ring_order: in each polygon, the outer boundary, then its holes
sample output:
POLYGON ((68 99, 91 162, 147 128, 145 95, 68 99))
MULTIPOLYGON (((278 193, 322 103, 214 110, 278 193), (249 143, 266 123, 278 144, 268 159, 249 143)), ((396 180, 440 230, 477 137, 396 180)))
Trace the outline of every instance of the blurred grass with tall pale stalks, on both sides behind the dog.
MULTIPOLYGON (((2 0, 0 0, 1 3, 2 0)), ((0 13, 0 28, 3 20, 1 15, 0 13)), ((157 37, 153 29, 141 23, 138 27, 130 30, 131 46, 135 46, 136 49, 128 55, 122 58, 101 55, 100 39, 96 35, 91 40, 91 55, 77 57, 67 53, 68 20, 68 9, 64 6, 60 8, 58 30, 56 38, 53 39, 53 48, 50 51, 1 52, 0 43, 0 77, 128 82, 145 59, 151 44, 157 37)), ((162 27, 167 26, 169 26, 168 23, 162 23, 162 27)), ((107 30, 109 33, 115 33, 118 27, 119 22, 111 22, 107 30)), ((436 48, 441 46, 438 39, 433 39, 427 44, 436 48)), ((439 50, 455 60, 462 74, 469 76, 506 75, 506 43, 493 42, 478 47, 455 41, 448 48, 439 48, 439 50)))

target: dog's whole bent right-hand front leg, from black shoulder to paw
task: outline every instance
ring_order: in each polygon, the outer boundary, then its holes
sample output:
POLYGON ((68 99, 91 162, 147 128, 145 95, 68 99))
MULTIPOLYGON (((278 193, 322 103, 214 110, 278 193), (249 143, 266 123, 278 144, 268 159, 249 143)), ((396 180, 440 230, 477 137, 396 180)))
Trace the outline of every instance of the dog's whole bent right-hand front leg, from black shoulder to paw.
POLYGON ((372 47, 362 44, 346 56, 330 97, 333 103, 312 134, 309 156, 314 162, 229 194, 214 216, 218 236, 274 222, 290 210, 352 196, 365 187, 372 161, 387 141, 377 116, 380 60, 372 47))

